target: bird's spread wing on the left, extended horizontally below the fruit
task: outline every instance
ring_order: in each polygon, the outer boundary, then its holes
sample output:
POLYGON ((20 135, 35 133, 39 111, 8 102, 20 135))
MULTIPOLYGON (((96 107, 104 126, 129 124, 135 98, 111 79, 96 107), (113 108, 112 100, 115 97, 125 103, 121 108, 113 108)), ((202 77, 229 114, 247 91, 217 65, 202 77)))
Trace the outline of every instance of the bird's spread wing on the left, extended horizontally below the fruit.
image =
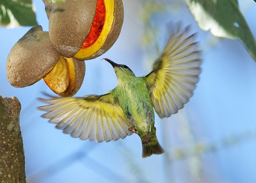
POLYGON ((39 99, 49 105, 38 107, 47 111, 44 118, 56 123, 56 128, 74 138, 90 141, 111 141, 131 135, 131 125, 124 112, 110 94, 85 97, 51 97, 39 99))

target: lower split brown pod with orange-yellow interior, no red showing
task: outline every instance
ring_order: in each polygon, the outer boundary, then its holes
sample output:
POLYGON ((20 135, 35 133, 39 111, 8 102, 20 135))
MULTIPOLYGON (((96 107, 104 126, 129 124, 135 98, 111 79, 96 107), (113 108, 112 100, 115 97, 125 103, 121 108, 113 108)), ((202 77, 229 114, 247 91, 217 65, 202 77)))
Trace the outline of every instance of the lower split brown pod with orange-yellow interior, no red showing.
POLYGON ((6 75, 12 86, 22 88, 44 78, 49 88, 60 96, 76 94, 84 74, 84 61, 61 56, 41 26, 31 28, 20 38, 6 61, 6 75))

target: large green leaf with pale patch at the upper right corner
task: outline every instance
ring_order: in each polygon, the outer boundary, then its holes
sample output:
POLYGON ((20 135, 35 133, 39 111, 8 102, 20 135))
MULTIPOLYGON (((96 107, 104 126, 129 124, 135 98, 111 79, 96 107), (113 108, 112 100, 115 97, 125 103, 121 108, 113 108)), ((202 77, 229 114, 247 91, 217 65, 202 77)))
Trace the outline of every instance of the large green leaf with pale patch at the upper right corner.
POLYGON ((237 0, 186 0, 198 26, 214 36, 239 39, 256 61, 256 42, 237 0))

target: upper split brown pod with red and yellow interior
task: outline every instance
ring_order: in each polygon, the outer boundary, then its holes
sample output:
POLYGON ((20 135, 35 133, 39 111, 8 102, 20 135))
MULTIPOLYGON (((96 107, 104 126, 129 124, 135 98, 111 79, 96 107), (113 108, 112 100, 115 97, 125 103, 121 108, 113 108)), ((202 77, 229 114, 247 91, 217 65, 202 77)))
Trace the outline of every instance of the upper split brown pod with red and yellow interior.
POLYGON ((48 6, 49 36, 61 55, 90 60, 108 51, 124 21, 122 0, 66 0, 48 6))

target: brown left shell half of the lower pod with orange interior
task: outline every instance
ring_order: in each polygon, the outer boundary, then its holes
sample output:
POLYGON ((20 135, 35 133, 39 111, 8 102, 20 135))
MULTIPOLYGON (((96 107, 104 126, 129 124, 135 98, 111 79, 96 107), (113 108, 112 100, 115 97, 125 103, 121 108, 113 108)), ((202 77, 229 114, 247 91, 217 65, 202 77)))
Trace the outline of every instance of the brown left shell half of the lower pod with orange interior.
POLYGON ((14 87, 36 83, 57 63, 60 54, 54 49, 41 26, 31 28, 12 47, 6 61, 6 75, 14 87))

